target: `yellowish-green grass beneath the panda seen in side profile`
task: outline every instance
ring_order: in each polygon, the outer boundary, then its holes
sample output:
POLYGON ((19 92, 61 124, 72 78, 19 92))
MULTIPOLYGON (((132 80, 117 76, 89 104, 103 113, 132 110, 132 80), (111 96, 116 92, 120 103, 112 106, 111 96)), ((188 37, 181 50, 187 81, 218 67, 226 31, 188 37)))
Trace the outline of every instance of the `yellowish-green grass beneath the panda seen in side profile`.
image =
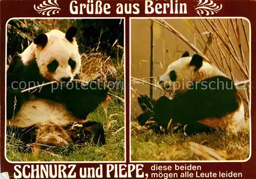
POLYGON ((131 125, 132 161, 246 160, 249 157, 249 127, 236 134, 217 131, 186 137, 173 133, 158 135, 137 122, 131 125))

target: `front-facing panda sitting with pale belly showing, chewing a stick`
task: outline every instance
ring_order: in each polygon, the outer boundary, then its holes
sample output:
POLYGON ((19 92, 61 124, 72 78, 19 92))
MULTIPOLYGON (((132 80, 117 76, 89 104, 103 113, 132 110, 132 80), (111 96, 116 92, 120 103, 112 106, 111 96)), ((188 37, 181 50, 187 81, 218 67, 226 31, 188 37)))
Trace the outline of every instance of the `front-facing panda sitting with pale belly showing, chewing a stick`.
POLYGON ((94 81, 73 81, 81 57, 75 40, 77 29, 40 34, 12 58, 7 70, 7 133, 15 132, 28 143, 67 146, 105 144, 101 123, 87 116, 107 99, 108 88, 94 81), (22 93, 27 88, 54 82, 22 93), (15 131, 13 131, 13 128, 15 131))

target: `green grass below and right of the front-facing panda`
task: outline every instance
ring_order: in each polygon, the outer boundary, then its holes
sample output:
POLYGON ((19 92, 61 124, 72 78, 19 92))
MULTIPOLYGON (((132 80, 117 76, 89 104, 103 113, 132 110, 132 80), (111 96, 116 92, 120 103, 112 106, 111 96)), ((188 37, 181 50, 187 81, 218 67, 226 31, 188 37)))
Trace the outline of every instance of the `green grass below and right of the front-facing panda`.
MULTIPOLYGON (((123 92, 112 92, 123 98, 123 92)), ((31 149, 21 148, 14 138, 7 140, 7 158, 10 161, 124 161, 124 104, 111 97, 105 110, 99 106, 88 117, 104 126, 106 144, 103 146, 73 145, 68 147, 44 147, 38 156, 31 149)))

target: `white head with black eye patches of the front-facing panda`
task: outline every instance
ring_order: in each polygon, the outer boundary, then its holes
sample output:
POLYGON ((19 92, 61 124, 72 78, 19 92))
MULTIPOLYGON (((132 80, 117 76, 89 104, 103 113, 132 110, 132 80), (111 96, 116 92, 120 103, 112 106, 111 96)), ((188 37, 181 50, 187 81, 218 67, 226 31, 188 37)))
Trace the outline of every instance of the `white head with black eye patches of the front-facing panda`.
POLYGON ((75 40, 77 29, 71 27, 66 33, 52 30, 34 39, 34 57, 42 76, 50 81, 68 82, 79 73, 81 56, 75 40))

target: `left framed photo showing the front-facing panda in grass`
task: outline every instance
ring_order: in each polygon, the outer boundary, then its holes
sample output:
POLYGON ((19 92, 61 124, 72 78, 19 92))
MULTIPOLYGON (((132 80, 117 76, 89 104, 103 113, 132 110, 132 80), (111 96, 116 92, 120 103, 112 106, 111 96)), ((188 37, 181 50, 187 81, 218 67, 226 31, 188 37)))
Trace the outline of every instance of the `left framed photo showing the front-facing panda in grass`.
POLYGON ((124 19, 6 28, 6 160, 124 161, 124 19))

